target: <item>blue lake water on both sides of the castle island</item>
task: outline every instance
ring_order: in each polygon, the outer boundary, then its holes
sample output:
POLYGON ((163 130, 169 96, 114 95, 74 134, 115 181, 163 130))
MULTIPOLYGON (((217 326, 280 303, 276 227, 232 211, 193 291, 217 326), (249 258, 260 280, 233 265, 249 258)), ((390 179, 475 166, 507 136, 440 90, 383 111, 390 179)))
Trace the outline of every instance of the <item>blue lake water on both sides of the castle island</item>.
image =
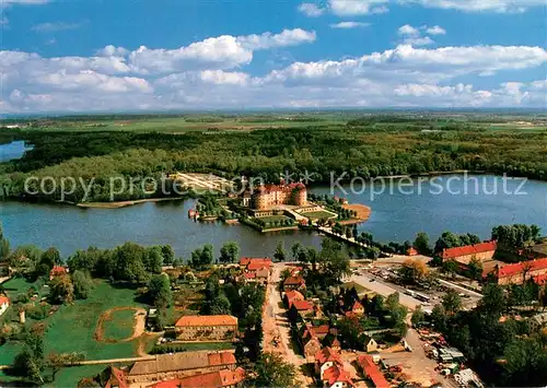
MULTIPOLYGON (((476 178, 480 179, 481 186, 478 192, 475 192, 473 181, 466 184, 461 176, 456 176, 456 180, 453 176, 445 176, 422 181, 421 186, 415 179, 412 186, 403 187, 403 192, 395 184, 392 192, 386 188, 384 193, 373 196, 381 188, 376 184, 354 193, 346 185, 344 190, 348 190, 347 193, 339 188, 335 193, 347 197, 350 202, 370 205, 371 217, 359 225, 359 230, 370 232, 383 242, 412 240, 416 233, 422 231, 430 234, 432 240, 444 231, 475 233, 486 239, 493 226, 512 223, 537 224, 547 234, 546 183, 529 180, 516 192, 521 181, 510 180, 505 183, 509 192, 505 193, 502 178, 476 178), (491 193, 494 185, 498 185, 497 195, 491 193), (439 186, 444 187, 442 192, 438 192, 439 186), (414 193, 409 193, 412 190, 414 193)), ((360 186, 356 188, 362 189, 360 186)), ((330 192, 327 187, 312 191, 330 192)), ((244 225, 196 223, 187 217, 191 208, 194 201, 149 202, 121 209, 0 202, 0 220, 12 246, 57 246, 63 256, 90 245, 106 248, 127 240, 142 245, 171 244, 176 254, 185 258, 207 243, 213 244, 218 251, 226 240, 237 240, 242 254, 248 256, 271 256, 279 240, 284 242, 287 250, 296 240, 304 245, 321 244, 322 237, 310 232, 260 234, 244 225)))

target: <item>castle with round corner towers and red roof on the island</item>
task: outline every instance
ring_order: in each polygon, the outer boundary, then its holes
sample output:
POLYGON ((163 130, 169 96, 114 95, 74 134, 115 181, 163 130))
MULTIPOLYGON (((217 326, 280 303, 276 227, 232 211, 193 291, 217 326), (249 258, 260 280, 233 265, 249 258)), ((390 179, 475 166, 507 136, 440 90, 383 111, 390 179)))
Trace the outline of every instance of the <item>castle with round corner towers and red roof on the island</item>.
POLYGON ((267 210, 276 204, 307 204, 307 191, 304 184, 261 185, 251 196, 251 207, 255 210, 267 210))

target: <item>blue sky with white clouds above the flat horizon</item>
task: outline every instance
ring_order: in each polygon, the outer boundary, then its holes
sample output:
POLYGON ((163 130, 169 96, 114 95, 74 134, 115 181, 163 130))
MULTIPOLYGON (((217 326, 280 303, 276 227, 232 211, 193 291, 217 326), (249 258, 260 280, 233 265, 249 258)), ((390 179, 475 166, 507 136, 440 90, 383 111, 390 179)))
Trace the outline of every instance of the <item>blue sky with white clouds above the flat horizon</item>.
POLYGON ((547 0, 0 0, 0 114, 547 108, 547 0))

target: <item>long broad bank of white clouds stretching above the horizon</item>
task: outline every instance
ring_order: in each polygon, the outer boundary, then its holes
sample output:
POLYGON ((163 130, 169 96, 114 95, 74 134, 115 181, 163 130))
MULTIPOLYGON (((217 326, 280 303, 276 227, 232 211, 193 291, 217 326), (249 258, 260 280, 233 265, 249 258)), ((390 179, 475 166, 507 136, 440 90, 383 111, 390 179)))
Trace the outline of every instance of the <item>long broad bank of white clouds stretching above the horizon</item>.
MULTIPOLYGON (((427 28, 417 28, 418 36, 405 38, 426 38, 421 34, 427 28)), ((263 75, 237 69, 252 60, 256 49, 303 43, 306 36, 303 31, 225 35, 175 50, 141 50, 138 58, 133 55, 139 50, 128 52, 115 46, 106 46, 93 57, 44 58, 32 52, 0 51, 0 108, 31 113, 546 106, 545 80, 519 82, 524 71, 547 63, 547 51, 542 47, 399 45, 358 58, 293 62, 263 75), (476 86, 481 82, 478 75, 486 74, 498 74, 501 84, 476 86), (468 80, 465 84, 457 81, 462 77, 468 80)))

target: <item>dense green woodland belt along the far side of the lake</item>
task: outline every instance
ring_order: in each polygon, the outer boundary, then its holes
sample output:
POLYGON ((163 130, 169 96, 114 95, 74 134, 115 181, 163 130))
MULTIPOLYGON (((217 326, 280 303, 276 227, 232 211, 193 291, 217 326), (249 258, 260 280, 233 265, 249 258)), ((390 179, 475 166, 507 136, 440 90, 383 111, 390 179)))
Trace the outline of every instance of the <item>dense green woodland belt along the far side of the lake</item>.
MULTIPOLYGON (((281 172, 312 173, 316 183, 330 172, 347 178, 424 174, 457 169, 508 173, 547 179, 547 132, 490 131, 468 122, 437 126, 431 121, 369 117, 347 125, 301 126, 230 132, 67 131, 21 129, 2 131, 2 141, 20 139, 34 149, 0 165, 4 197, 30 199, 27 176, 94 178, 88 201, 109 200, 109 177, 159 178, 172 171, 241 174, 278 181, 281 172), (395 121, 394 121, 395 120, 395 121), (431 128, 435 128, 432 130, 431 128)), ((207 129, 207 127, 205 127, 207 129)), ((80 186, 80 185, 79 185, 80 186)), ((116 200, 147 196, 127 188, 116 200)), ((80 187, 66 200, 79 202, 80 187)), ((58 200, 59 192, 38 195, 58 200)))

